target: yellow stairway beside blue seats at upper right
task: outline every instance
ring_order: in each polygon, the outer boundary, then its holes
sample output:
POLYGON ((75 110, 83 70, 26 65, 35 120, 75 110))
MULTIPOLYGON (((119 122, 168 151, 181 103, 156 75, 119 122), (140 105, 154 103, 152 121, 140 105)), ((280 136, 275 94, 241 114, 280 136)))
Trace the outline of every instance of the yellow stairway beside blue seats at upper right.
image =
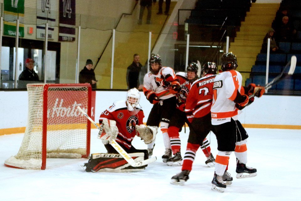
POLYGON ((279 6, 279 3, 252 3, 245 21, 241 22, 240 31, 236 33, 235 41, 229 45, 229 52, 237 57, 238 71, 243 77, 243 85, 250 77, 248 72, 251 72, 255 64, 263 38, 271 28, 279 6))

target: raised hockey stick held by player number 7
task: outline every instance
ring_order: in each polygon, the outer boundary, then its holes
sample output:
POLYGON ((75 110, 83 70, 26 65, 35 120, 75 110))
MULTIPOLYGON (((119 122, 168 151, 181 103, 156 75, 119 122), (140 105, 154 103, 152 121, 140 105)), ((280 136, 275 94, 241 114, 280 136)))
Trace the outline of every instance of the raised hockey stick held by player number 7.
MULTIPOLYGON (((284 74, 284 71, 286 71, 288 69, 288 67, 289 67, 288 75, 292 75, 295 71, 296 63, 297 63, 297 57, 295 55, 293 55, 291 58, 291 61, 286 64, 286 66, 283 68, 283 71, 280 73, 280 75, 278 75, 276 78, 272 79, 271 82, 264 85, 264 88, 270 89, 273 85, 277 84, 279 81, 284 79, 287 76, 286 74, 284 74)), ((253 94, 249 95, 249 98, 254 97, 256 93, 257 93, 257 91, 254 92, 253 94)))

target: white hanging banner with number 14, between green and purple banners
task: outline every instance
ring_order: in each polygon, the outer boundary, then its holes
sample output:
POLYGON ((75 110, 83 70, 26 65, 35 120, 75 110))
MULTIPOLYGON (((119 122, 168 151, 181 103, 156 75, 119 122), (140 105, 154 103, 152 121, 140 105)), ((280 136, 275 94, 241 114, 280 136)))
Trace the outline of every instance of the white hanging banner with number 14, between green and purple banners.
POLYGON ((37 1, 37 39, 45 39, 45 27, 48 23, 48 40, 54 40, 53 31, 56 25, 59 8, 56 0, 38 0, 37 1))

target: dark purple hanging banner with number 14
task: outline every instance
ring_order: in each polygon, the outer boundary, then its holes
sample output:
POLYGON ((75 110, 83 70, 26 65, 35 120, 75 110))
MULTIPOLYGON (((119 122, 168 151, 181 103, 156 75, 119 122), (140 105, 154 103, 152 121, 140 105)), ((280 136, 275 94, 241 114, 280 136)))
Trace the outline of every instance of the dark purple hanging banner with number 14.
POLYGON ((59 41, 75 41, 75 0, 61 0, 59 41))

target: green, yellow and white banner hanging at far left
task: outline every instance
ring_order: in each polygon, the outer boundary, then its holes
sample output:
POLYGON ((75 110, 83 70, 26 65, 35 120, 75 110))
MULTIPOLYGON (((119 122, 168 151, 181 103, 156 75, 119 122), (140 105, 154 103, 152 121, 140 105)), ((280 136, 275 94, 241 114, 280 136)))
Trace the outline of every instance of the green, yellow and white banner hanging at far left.
MULTIPOLYGON (((3 35, 16 36, 18 18, 24 18, 24 0, 4 0, 3 35)), ((24 37, 24 24, 19 24, 19 37, 24 37)))

